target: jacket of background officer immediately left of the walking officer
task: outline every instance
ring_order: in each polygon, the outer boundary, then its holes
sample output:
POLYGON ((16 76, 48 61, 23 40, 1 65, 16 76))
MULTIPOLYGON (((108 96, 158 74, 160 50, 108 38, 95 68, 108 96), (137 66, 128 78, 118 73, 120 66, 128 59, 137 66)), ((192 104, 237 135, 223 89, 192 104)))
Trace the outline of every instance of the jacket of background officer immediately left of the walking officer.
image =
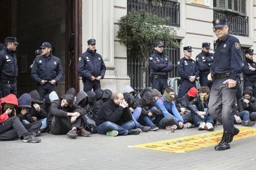
POLYGON ((213 54, 202 51, 195 59, 200 75, 208 75, 210 73, 211 65, 213 65, 213 54))

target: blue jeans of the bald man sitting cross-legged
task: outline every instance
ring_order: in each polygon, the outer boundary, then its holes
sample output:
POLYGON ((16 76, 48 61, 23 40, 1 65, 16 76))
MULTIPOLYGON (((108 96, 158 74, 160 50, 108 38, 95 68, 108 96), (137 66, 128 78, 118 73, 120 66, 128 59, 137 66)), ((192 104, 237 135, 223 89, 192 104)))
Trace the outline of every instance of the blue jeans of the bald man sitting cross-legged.
POLYGON ((134 129, 134 127, 134 121, 127 121, 126 123, 121 124, 120 126, 111 121, 105 121, 97 127, 97 131, 99 134, 106 134, 106 132, 109 131, 117 131, 118 135, 126 136, 129 133, 129 130, 134 129))

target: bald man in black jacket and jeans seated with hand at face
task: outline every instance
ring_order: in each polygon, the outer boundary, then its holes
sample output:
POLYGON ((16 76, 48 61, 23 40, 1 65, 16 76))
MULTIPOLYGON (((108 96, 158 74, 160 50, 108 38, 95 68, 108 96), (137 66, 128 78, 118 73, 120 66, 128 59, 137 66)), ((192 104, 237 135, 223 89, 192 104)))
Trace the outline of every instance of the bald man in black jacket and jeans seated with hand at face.
POLYGON ((111 99, 103 103, 98 113, 96 126, 99 134, 126 136, 142 132, 141 129, 134 129, 135 123, 122 93, 112 94, 111 99))

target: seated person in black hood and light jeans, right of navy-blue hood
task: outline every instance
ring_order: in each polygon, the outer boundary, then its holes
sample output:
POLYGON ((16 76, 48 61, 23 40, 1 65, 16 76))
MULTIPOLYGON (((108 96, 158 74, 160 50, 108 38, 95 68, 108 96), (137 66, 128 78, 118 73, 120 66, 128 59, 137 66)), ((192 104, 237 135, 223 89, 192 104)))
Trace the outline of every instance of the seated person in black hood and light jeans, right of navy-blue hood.
POLYGON ((46 123, 46 118, 48 113, 46 111, 43 111, 43 109, 41 108, 41 105, 43 104, 43 102, 40 99, 40 95, 39 93, 34 90, 32 92, 29 93, 32 99, 32 107, 29 110, 29 114, 32 116, 32 119, 35 119, 35 121, 41 121, 42 126, 40 131, 41 132, 46 132, 46 127, 47 127, 47 123, 46 123))

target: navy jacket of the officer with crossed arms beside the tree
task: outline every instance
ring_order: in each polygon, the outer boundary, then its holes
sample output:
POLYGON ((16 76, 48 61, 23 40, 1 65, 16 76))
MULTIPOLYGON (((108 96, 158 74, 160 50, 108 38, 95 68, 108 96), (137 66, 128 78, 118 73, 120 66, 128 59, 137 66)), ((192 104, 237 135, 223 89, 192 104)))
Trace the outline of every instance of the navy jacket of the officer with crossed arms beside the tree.
POLYGON ((167 79, 168 73, 173 69, 173 64, 169 60, 167 55, 163 52, 158 52, 155 50, 154 54, 150 55, 150 70, 151 75, 158 78, 167 79))

